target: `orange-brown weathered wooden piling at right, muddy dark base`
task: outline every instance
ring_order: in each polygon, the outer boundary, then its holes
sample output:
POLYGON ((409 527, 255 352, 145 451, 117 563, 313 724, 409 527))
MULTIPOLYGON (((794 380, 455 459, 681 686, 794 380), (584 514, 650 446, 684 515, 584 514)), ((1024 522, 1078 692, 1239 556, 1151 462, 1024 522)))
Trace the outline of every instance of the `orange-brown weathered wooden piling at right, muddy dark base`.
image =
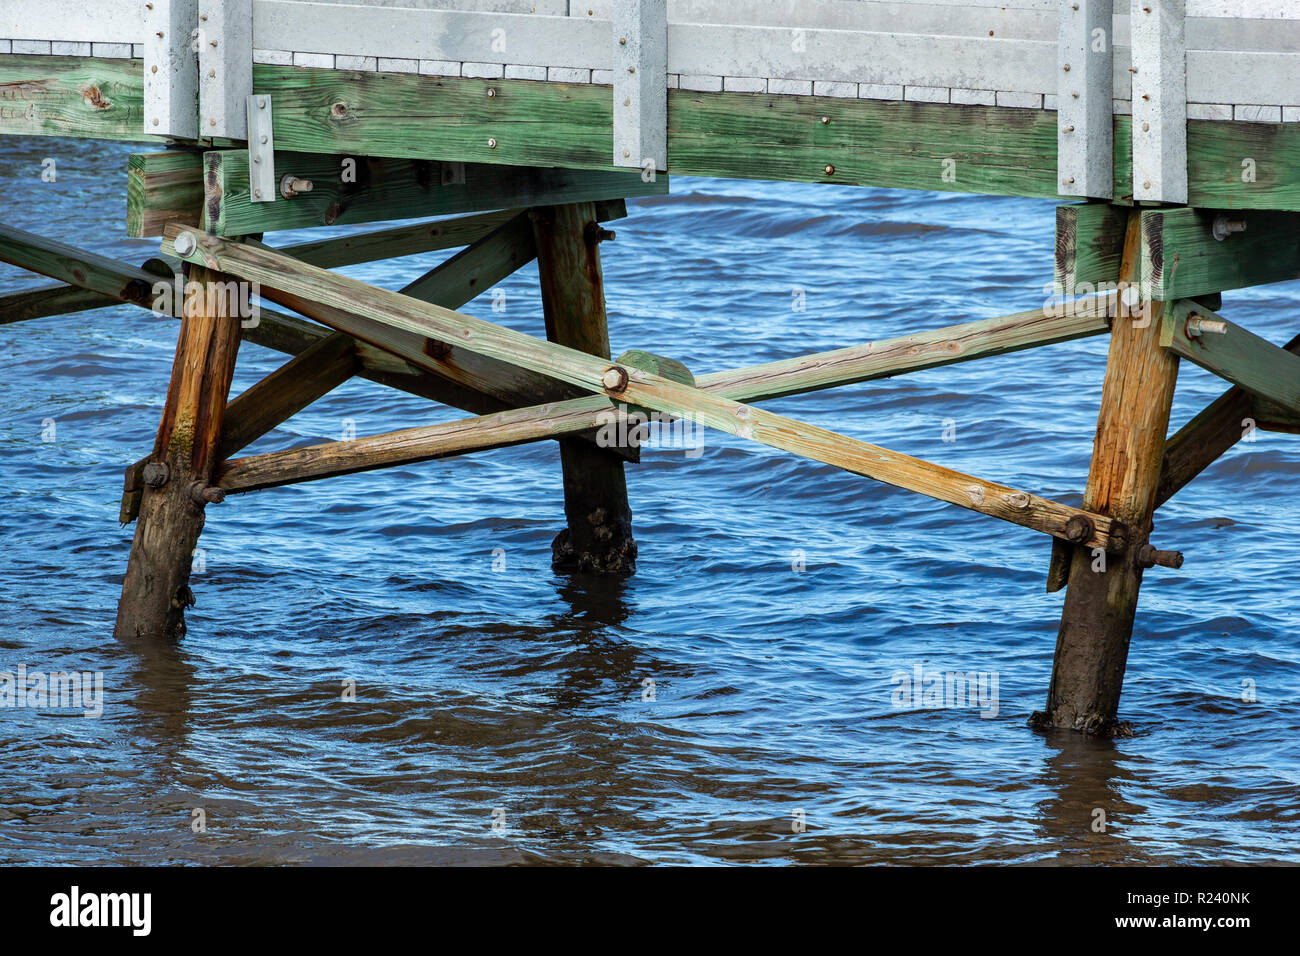
MULTIPOLYGON (((1122 284, 1139 280, 1140 245, 1140 213, 1132 212, 1122 284)), ((1110 333, 1083 507, 1122 522, 1126 546, 1115 554, 1074 548, 1046 709, 1031 718, 1037 726, 1097 735, 1127 732, 1118 710, 1143 576, 1139 554, 1152 528, 1178 377, 1178 356, 1160 346, 1164 303, 1145 303, 1144 311, 1143 303, 1128 306, 1124 298, 1119 295, 1110 333)))

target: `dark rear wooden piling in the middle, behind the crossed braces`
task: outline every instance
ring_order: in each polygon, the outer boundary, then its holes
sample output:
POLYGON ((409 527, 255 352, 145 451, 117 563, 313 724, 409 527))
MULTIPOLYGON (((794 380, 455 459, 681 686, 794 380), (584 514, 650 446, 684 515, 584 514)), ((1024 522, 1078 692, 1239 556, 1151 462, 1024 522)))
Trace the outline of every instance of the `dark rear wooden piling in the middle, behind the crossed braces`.
MULTIPOLYGON (((608 359, 599 245, 612 233, 597 222, 592 203, 569 203, 534 209, 533 234, 546 337, 608 359)), ((552 564, 562 571, 632 574, 637 544, 623 458, 578 438, 559 445, 568 527, 551 542, 552 564)))

